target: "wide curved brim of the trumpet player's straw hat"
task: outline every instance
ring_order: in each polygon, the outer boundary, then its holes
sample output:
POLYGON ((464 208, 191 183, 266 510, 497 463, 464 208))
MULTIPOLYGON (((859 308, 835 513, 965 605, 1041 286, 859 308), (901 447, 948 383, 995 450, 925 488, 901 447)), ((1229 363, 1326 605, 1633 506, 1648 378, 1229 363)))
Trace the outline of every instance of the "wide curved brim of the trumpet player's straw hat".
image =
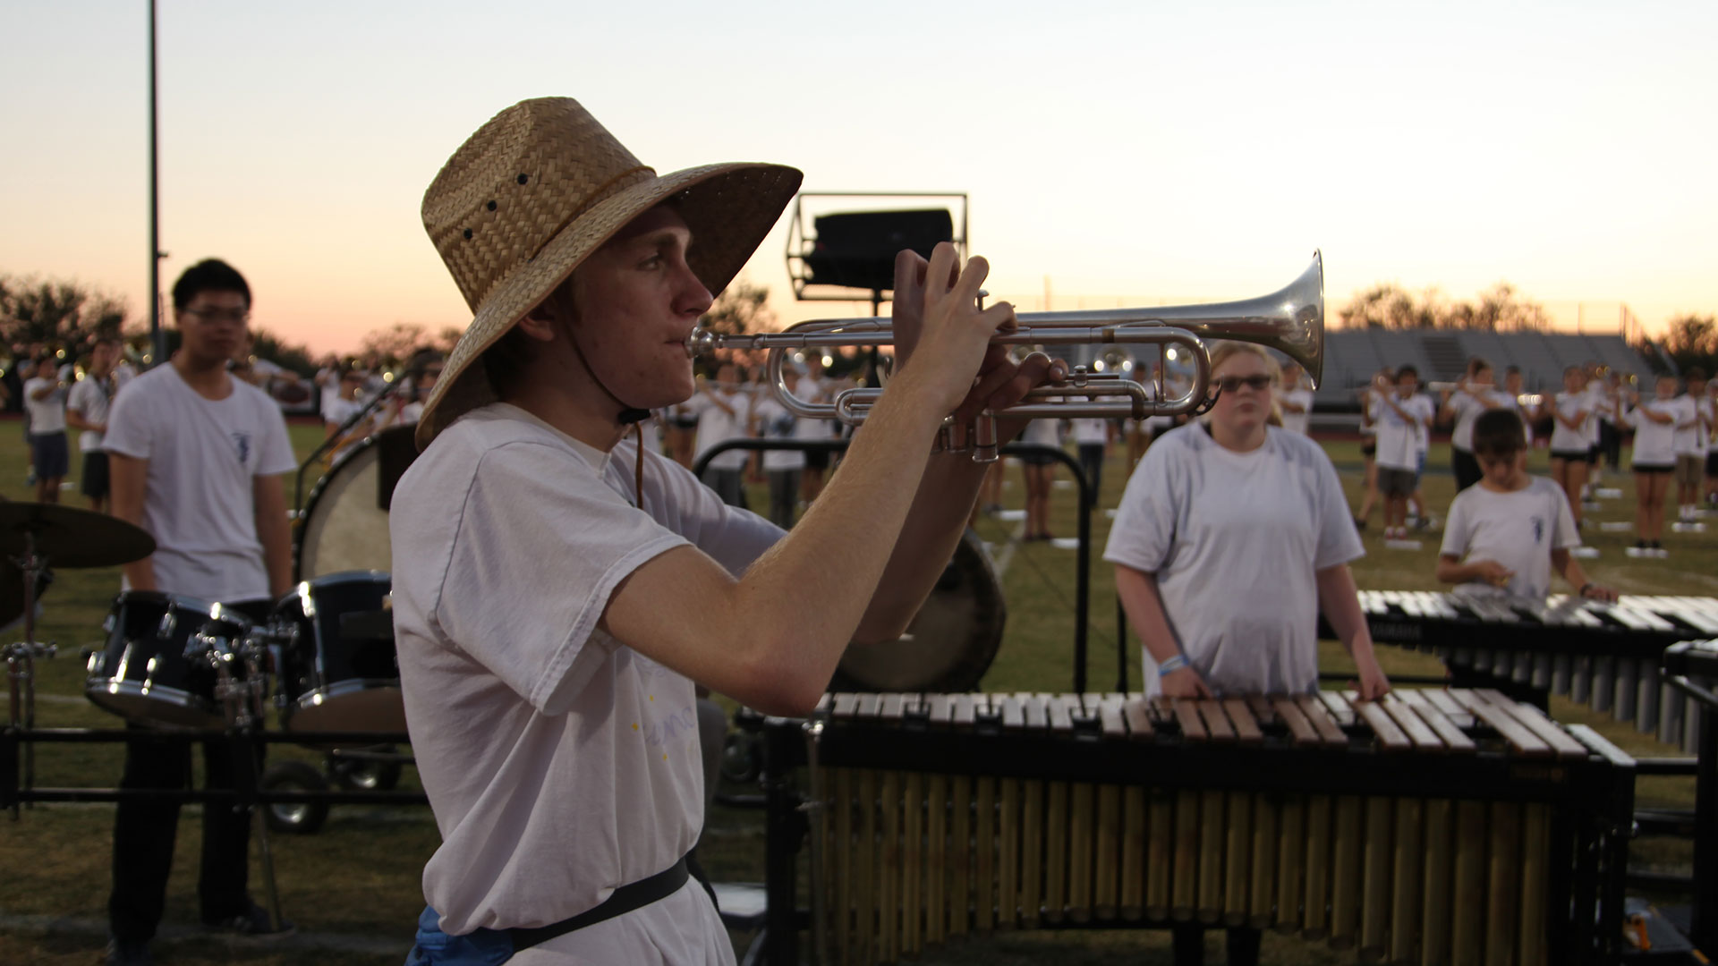
POLYGON ((414 437, 417 449, 426 449, 466 413, 497 400, 479 363, 483 352, 632 218, 675 199, 680 217, 692 230, 687 263, 711 294, 720 294, 775 227, 802 177, 797 168, 785 165, 703 165, 653 177, 593 205, 478 306, 424 404, 414 437))

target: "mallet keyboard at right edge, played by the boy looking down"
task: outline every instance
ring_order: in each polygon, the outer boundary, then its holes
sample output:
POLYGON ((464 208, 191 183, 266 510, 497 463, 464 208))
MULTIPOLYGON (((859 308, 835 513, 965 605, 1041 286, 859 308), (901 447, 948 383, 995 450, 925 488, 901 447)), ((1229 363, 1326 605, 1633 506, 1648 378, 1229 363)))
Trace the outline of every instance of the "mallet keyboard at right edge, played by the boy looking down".
MULTIPOLYGON (((1634 596, 1544 605, 1431 591, 1361 591, 1373 641, 1443 658, 1459 682, 1560 694, 1694 753, 1703 710, 1658 677, 1665 648, 1718 636, 1718 600, 1634 596)), ((1541 698, 1543 700, 1543 698, 1541 698)))

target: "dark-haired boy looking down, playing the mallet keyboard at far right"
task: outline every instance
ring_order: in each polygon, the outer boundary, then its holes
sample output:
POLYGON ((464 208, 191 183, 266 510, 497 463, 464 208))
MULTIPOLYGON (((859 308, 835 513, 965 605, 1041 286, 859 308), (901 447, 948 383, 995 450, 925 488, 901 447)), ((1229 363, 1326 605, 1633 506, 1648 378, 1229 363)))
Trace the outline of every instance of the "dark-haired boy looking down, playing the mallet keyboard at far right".
POLYGON ((1555 569, 1579 596, 1617 600, 1617 591, 1591 583, 1569 552, 1581 547, 1569 497, 1557 483, 1527 476, 1527 430, 1520 416, 1510 409, 1479 416, 1474 457, 1483 476, 1450 502, 1438 579, 1543 603, 1555 569))

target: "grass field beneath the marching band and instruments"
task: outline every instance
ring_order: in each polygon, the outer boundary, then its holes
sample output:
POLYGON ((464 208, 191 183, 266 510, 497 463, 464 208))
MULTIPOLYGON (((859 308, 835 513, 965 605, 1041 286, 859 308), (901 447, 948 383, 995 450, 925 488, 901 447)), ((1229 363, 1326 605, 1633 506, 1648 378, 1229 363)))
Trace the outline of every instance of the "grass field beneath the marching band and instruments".
MULTIPOLYGON (((308 454, 320 431, 294 426, 294 445, 308 454)), ((1356 443, 1326 445, 1342 469, 1350 504, 1359 504, 1359 450, 1356 443)), ((1447 466, 1447 449, 1435 447, 1426 478, 1428 505, 1438 516, 1448 507, 1453 481, 1438 473, 1447 466)), ((1544 471, 1544 457, 1534 457, 1534 471, 1544 471)), ((74 471, 76 476, 76 471, 74 471)), ((1063 474, 1065 476, 1065 474, 1063 474)), ((1125 485, 1122 454, 1112 452, 1105 469, 1100 505, 1113 507, 1125 485)), ((1008 505, 1020 505, 1019 473, 1010 471, 1005 490, 1008 505)), ((1632 519, 1632 480, 1610 476, 1606 485, 1620 486, 1624 497, 1608 500, 1591 514, 1599 521, 1632 519)), ((15 423, 0 423, 0 492, 17 497, 24 490, 22 442, 15 423)), ((70 505, 81 497, 67 492, 70 505)), ((290 498, 290 492, 289 492, 290 498)), ((752 492, 752 505, 766 505, 761 490, 752 492)), ((1062 536, 1075 533, 1075 495, 1060 488, 1055 495, 1053 529, 1062 536)), ((981 536, 1005 547, 1017 524, 984 517, 981 536)), ((1356 564, 1362 588, 1436 590, 1433 564, 1436 535, 1428 535, 1419 552, 1385 550, 1378 535, 1378 517, 1366 533, 1368 555, 1356 564)), ((1091 586, 1091 682, 1106 689, 1115 679, 1117 648, 1129 662, 1129 681, 1137 686, 1137 645, 1118 645, 1113 578, 1098 560, 1108 533, 1103 512, 1093 517, 1093 586, 1091 586)), ((1718 596, 1718 541, 1713 535, 1666 535, 1668 560, 1630 560, 1624 547, 1629 533, 1605 533, 1593 528, 1587 541, 1599 548, 1598 560, 1587 560, 1594 579, 1629 593, 1685 593, 1718 596)), ((1074 639, 1074 552, 1048 543, 1020 543, 1012 548, 1003 590, 1008 624, 1002 650, 983 681, 986 691, 1065 691, 1072 684, 1074 639)), ((38 724, 45 727, 113 727, 117 718, 82 698, 84 669, 81 646, 96 646, 100 624, 119 590, 117 569, 58 571, 45 600, 38 638, 57 641, 60 657, 38 662, 38 724)), ((1385 669, 1392 674, 1441 674, 1436 660, 1383 646, 1385 669)), ((1323 662, 1328 670, 1350 667, 1335 645, 1326 643, 1323 662)), ((1639 736, 1632 727, 1594 715, 1562 700, 1553 701, 1560 720, 1584 722, 1636 755, 1675 755, 1668 746, 1639 736)), ((275 746, 275 758, 320 761, 320 756, 275 746)), ((271 758, 271 760, 275 760, 271 758)), ((120 749, 94 744, 48 744, 38 749, 40 786, 112 786, 120 772, 120 749)), ((414 773, 405 772, 404 787, 412 787, 414 773)), ((730 789, 744 791, 744 789, 730 789)), ((1689 806, 1692 780, 1649 779, 1639 787, 1642 803, 1689 806)), ((187 806, 194 815, 194 806, 187 806)), ((283 944, 247 945, 211 940, 199 935, 196 923, 196 856, 199 823, 182 820, 179 827, 174 877, 168 887, 167 921, 156 944, 156 959, 168 964, 397 964, 411 944, 411 930, 423 908, 419 873, 436 847, 435 823, 426 808, 337 806, 316 835, 277 835, 275 865, 282 904, 297 921, 301 935, 283 944)), ((105 904, 112 841, 112 806, 43 804, 22 813, 19 822, 0 820, 0 963, 89 964, 100 961, 105 942, 105 904)), ((1685 868, 1682 844, 1642 844, 1642 863, 1658 868, 1685 868)), ((718 808, 710 816, 704 861, 718 880, 763 878, 763 822, 756 811, 718 808)), ((261 897, 261 882, 253 859, 253 894, 261 897)), ((744 947, 749 937, 735 937, 744 947)), ((1211 940, 1211 963, 1221 959, 1220 942, 1211 940)), ((1352 954, 1335 954, 1323 945, 1276 935, 1266 937, 1268 963, 1321 964, 1352 963, 1352 954)), ((988 940, 924 956, 921 963, 1003 966, 1026 963, 1120 964, 1170 963, 1167 933, 1158 932, 1043 932, 1000 935, 988 940)))

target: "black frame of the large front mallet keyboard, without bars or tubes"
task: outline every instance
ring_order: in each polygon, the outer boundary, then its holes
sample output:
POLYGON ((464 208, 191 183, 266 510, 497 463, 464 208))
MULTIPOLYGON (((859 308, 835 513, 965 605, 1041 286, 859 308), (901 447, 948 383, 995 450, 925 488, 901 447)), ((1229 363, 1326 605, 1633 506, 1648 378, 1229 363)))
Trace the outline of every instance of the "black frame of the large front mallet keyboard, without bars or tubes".
MULTIPOLYGON (((1364 734, 1347 727, 1350 739, 1364 734)), ((1106 741, 1096 734, 950 731, 923 725, 825 722, 819 767, 890 768, 1038 780, 1122 784, 1149 775, 1154 787, 1371 794, 1390 798, 1544 803, 1551 823, 1551 963, 1610 964, 1622 956, 1624 875, 1634 811, 1634 760, 1584 725, 1569 729, 1593 753, 1579 761, 1529 761, 1496 753, 1476 756, 1386 755, 1366 741, 1343 749, 1189 743, 1106 741), (1567 918, 1558 911, 1565 911, 1567 918)), ((804 722, 763 725, 766 799, 766 963, 799 963, 799 932, 809 913, 797 906, 799 853, 809 832, 806 796, 794 773, 806 765, 804 722)), ((1161 928, 1165 923, 1093 921, 1053 928, 1161 928)))

